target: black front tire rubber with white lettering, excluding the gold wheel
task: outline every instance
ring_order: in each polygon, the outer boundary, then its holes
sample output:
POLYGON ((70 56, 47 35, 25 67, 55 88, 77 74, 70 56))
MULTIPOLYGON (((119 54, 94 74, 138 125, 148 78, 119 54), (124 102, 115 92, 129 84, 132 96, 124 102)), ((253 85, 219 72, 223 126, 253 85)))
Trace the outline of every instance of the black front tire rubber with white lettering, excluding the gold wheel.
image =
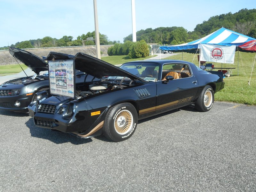
POLYGON ((133 135, 133 133, 136 130, 137 124, 138 124, 138 115, 137 115, 136 109, 132 105, 130 105, 128 103, 116 105, 113 107, 113 110, 110 112, 109 116, 110 116, 109 131, 110 131, 112 137, 115 139, 115 141, 123 141, 123 140, 130 138, 133 135), (127 132, 126 134, 123 134, 123 135, 117 133, 115 130, 115 126, 114 126, 116 115, 122 110, 130 111, 130 113, 132 114, 132 117, 133 117, 132 128, 129 130, 129 132, 127 132))

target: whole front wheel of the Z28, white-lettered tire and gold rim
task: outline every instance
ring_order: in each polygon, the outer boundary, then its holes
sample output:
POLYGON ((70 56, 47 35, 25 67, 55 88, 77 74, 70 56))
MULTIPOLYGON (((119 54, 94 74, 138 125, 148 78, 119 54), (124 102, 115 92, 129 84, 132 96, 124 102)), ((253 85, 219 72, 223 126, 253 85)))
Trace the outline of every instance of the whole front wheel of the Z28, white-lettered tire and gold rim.
POLYGON ((138 123, 138 114, 131 103, 120 103, 107 112, 103 125, 104 135, 113 141, 123 141, 132 136, 138 123))

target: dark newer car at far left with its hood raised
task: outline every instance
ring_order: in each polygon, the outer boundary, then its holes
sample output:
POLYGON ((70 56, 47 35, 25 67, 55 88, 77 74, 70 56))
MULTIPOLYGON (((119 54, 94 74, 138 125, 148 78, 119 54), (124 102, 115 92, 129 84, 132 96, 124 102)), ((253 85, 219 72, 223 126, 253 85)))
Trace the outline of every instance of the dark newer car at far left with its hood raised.
POLYGON ((16 112, 28 112, 28 105, 35 93, 49 89, 48 64, 36 55, 10 47, 10 54, 35 72, 34 76, 26 76, 4 82, 0 86, 0 109, 16 112))

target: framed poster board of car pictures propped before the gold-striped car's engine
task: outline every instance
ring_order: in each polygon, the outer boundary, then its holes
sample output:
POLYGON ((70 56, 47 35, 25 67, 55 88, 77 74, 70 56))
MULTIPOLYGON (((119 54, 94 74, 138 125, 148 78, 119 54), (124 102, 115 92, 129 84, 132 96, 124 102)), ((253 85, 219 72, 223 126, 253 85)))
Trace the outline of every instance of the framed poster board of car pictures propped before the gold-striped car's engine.
POLYGON ((74 60, 48 61, 50 92, 52 94, 75 98, 74 60))

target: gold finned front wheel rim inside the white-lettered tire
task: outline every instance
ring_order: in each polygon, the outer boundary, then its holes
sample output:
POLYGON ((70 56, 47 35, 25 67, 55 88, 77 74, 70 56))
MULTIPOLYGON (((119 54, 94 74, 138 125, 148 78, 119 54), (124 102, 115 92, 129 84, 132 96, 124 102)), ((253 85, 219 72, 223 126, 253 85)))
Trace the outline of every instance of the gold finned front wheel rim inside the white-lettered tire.
POLYGON ((115 130, 118 134, 124 135, 132 129, 133 116, 128 110, 121 110, 115 117, 115 130))

